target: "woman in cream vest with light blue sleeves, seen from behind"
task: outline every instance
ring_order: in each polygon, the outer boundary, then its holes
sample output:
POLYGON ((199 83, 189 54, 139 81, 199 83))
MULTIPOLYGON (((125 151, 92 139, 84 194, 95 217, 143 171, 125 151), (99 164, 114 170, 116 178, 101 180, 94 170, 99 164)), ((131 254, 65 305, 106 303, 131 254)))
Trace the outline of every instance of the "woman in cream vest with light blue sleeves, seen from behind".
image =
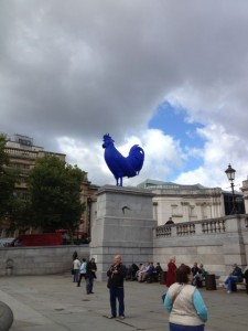
POLYGON ((207 308, 200 291, 191 285, 193 274, 186 265, 175 271, 175 284, 169 288, 164 306, 170 312, 170 331, 204 331, 207 308))

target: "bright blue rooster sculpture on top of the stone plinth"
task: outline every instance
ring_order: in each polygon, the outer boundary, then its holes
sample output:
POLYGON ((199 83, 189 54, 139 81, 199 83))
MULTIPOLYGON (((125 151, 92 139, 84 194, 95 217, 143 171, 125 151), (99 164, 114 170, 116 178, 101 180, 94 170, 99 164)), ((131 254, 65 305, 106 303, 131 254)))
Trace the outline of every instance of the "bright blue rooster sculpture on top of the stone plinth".
POLYGON ((115 140, 108 135, 104 136, 103 148, 105 161, 116 179, 117 186, 122 186, 123 177, 136 177, 143 166, 144 151, 139 145, 133 145, 129 156, 125 158, 114 145, 115 140))

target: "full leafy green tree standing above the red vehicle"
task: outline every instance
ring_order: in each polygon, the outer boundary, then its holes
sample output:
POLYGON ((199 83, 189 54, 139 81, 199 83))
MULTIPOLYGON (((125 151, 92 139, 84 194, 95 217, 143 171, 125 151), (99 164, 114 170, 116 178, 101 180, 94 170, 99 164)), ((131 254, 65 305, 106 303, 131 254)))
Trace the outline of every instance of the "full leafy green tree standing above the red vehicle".
POLYGON ((43 232, 78 227, 85 205, 80 202, 80 183, 85 172, 55 156, 37 160, 30 172, 28 185, 33 211, 32 225, 43 232))

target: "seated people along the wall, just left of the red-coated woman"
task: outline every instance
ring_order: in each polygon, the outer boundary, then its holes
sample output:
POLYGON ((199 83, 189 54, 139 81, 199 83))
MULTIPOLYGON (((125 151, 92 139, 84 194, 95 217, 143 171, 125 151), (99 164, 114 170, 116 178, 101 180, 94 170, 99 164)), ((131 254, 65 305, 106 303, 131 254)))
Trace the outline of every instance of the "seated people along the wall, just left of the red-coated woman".
POLYGON ((139 267, 132 264, 127 271, 126 279, 138 280, 139 282, 159 281, 162 268, 160 263, 154 266, 153 261, 148 261, 145 265, 140 264, 139 267))

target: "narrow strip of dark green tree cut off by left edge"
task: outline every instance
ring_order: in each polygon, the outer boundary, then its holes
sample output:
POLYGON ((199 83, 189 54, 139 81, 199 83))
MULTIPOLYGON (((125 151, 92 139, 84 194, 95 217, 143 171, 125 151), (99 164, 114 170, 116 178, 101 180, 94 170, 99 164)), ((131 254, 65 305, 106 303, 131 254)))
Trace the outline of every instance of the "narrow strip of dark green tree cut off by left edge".
POLYGON ((9 156, 6 152, 7 137, 0 134, 0 220, 11 216, 14 184, 19 172, 9 168, 9 156))

